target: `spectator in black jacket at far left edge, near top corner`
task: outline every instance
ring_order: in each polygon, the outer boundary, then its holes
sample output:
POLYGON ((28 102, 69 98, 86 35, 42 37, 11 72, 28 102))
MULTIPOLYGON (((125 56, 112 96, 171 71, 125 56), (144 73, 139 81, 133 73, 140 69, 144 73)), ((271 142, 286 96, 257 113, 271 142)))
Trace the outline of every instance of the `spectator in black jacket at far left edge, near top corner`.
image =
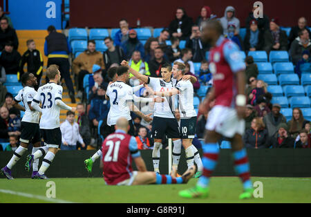
POLYGON ((0 24, 0 50, 3 50, 8 41, 12 41, 14 49, 17 50, 19 48, 19 39, 17 38, 15 29, 9 26, 8 18, 2 17, 0 24))

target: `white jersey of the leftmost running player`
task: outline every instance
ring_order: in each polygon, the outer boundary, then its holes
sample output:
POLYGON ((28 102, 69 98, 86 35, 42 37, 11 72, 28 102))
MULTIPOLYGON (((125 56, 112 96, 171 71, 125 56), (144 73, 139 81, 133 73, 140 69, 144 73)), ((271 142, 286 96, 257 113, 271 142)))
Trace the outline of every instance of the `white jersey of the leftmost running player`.
POLYGON ((23 102, 23 107, 25 108, 25 114, 21 119, 22 122, 29 122, 39 124, 40 113, 39 111, 31 111, 28 104, 32 102, 33 98, 37 94, 35 88, 30 86, 25 86, 22 88, 17 96, 15 97, 16 102, 23 102))

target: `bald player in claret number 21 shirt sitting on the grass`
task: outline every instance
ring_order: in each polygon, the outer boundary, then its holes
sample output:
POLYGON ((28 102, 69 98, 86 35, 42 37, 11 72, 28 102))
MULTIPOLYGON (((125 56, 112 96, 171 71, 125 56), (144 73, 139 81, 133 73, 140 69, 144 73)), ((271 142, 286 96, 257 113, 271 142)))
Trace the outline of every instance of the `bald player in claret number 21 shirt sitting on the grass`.
POLYGON ((195 166, 190 167, 178 178, 174 167, 171 176, 147 171, 135 138, 127 134, 129 121, 125 117, 120 117, 115 129, 115 133, 109 135, 102 144, 103 175, 106 185, 182 184, 194 176, 195 166), (132 160, 138 171, 133 171, 132 160))

